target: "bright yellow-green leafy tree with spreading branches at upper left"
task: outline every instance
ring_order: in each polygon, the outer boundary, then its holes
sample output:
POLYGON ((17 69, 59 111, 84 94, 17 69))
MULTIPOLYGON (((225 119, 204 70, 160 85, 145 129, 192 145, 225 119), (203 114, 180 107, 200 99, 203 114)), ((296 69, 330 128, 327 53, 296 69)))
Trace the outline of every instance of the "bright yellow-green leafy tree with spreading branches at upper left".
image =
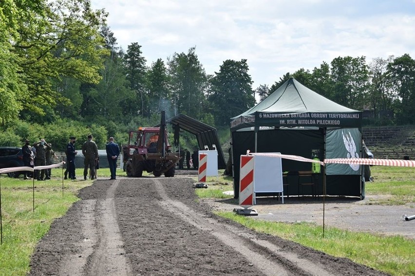
POLYGON ((65 98, 54 89, 62 77, 97 83, 102 65, 103 38, 99 27, 107 14, 91 9, 90 0, 55 0, 42 13, 24 12, 13 41, 19 78, 27 86, 21 103, 38 114, 65 98))

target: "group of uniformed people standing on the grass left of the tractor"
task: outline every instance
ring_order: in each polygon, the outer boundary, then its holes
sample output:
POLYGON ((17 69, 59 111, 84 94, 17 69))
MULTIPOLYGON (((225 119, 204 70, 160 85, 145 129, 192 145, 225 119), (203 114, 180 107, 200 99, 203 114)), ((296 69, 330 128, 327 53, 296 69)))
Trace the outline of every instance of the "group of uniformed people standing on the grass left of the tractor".
MULTIPOLYGON (((88 135, 88 140, 82 145, 82 154, 85 156, 84 161, 84 180, 88 178, 88 170, 90 170, 90 178, 96 179, 96 169, 99 168, 98 147, 93 140, 93 136, 88 135)), ((64 179, 76 179, 75 175, 75 155, 78 153, 75 150, 76 138, 71 136, 69 143, 66 146, 66 171, 64 179)), ((57 155, 52 149, 51 143, 46 143, 45 139, 40 139, 38 142, 30 145, 29 140, 25 140, 23 145, 23 163, 25 167, 47 166, 52 165, 52 158, 57 158, 57 155)), ((114 143, 114 138, 110 137, 106 145, 107 159, 110 166, 111 180, 116 179, 117 161, 120 155, 119 147, 114 143)), ((51 169, 35 170, 34 175, 31 172, 23 172, 23 179, 31 179, 36 177, 38 181, 51 179, 51 169)))

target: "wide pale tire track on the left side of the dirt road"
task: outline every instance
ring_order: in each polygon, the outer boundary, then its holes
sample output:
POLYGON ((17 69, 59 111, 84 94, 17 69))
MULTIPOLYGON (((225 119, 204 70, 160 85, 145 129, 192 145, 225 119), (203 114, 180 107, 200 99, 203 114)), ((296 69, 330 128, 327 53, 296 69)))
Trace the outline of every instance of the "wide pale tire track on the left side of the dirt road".
POLYGON ((113 182, 105 198, 82 200, 80 221, 85 238, 79 244, 80 252, 62 260, 58 275, 131 275, 114 205, 118 184, 119 180, 113 182))

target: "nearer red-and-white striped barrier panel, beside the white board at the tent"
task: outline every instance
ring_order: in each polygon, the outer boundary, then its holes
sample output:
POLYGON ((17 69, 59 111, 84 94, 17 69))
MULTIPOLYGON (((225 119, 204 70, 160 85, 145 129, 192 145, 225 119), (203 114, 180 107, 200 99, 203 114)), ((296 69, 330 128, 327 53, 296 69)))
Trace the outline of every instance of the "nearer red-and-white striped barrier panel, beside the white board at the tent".
POLYGON ((255 156, 241 155, 239 180, 239 205, 248 208, 254 205, 255 156))

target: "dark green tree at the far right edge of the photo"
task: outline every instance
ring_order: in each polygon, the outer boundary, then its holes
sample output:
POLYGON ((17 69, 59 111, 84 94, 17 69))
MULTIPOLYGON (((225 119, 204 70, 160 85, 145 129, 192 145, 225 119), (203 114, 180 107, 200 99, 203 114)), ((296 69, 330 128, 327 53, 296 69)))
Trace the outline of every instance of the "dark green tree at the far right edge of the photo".
POLYGON ((400 123, 414 123, 415 119, 415 60, 404 54, 388 64, 388 76, 399 96, 396 113, 400 123))

